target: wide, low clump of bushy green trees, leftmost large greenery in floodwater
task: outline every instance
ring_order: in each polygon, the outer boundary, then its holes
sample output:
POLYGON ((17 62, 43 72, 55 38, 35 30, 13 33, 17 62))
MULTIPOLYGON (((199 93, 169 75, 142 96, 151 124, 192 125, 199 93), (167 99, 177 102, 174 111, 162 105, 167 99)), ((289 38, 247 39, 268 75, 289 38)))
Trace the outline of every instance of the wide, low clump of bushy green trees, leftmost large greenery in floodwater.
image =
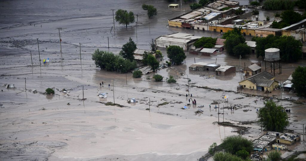
POLYGON ((135 61, 129 61, 123 59, 118 55, 114 55, 112 52, 95 50, 92 54, 92 60, 95 61, 96 67, 106 69, 107 71, 121 71, 126 73, 136 68, 135 61))

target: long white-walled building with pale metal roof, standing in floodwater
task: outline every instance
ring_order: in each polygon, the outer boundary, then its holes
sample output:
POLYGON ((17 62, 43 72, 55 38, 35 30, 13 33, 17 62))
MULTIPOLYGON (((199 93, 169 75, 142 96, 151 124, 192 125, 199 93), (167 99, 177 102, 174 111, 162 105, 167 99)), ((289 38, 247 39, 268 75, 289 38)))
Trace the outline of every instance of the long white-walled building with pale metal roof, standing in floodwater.
POLYGON ((155 39, 157 47, 168 48, 170 45, 177 45, 184 50, 194 49, 193 43, 201 38, 188 33, 173 33, 169 35, 159 36, 155 39))

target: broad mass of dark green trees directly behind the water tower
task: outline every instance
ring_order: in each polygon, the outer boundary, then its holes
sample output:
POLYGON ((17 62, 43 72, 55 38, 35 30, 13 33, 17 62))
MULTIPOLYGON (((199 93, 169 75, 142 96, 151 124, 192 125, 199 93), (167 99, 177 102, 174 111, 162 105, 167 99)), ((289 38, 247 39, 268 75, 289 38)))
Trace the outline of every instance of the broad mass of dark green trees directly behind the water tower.
POLYGON ((292 36, 274 36, 252 38, 256 41, 257 57, 265 56, 267 48, 278 48, 281 60, 284 62, 295 62, 300 59, 302 43, 295 40, 292 36))

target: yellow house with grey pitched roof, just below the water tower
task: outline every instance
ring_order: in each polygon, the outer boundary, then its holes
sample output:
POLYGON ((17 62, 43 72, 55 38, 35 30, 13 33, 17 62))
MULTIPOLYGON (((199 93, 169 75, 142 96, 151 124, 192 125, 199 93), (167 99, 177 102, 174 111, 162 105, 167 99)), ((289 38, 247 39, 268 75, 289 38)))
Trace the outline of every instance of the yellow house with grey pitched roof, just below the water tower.
POLYGON ((242 88, 252 89, 252 90, 262 90, 262 91, 272 91, 278 86, 278 82, 274 80, 275 77, 263 71, 259 74, 253 75, 243 81, 239 82, 242 88))

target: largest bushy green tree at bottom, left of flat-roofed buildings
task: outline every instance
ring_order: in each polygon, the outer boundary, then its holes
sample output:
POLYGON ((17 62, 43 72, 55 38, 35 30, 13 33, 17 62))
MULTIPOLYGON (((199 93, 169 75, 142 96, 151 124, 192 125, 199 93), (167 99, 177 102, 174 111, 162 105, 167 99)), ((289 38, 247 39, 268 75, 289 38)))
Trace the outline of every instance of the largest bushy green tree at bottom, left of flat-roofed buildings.
POLYGON ((236 154, 240 150, 245 150, 249 154, 253 150, 252 141, 242 136, 228 136, 222 140, 220 147, 231 154, 236 154))

